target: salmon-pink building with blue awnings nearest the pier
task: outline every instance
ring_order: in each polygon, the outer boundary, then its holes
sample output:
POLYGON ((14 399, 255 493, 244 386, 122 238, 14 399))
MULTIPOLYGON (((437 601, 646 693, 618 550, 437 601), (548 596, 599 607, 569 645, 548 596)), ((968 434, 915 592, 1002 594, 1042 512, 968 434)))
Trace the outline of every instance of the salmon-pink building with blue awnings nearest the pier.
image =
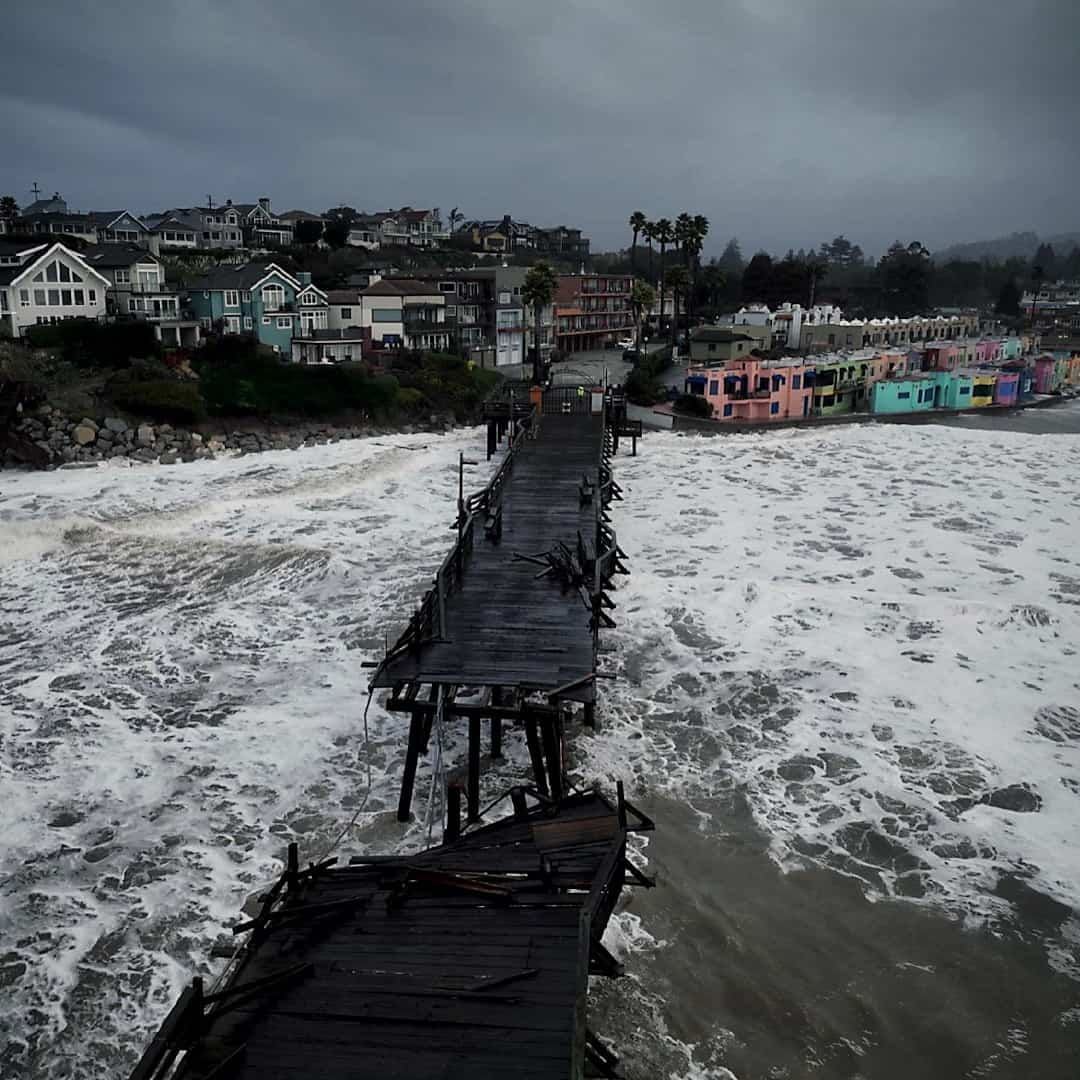
POLYGON ((731 360, 723 367, 688 367, 686 392, 703 396, 716 420, 801 419, 813 411, 814 368, 801 360, 756 356, 731 360))

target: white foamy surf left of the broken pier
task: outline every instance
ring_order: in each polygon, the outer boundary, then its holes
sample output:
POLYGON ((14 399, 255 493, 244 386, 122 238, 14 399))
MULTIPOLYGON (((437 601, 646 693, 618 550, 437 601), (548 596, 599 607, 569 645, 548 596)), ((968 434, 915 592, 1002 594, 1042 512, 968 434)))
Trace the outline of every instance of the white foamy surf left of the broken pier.
MULTIPOLYGON (((122 1075, 284 845, 349 820, 361 662, 445 553, 477 441, 3 475, 0 1076, 122 1075)), ((400 720, 369 726, 346 842, 418 846, 388 812, 400 720)))

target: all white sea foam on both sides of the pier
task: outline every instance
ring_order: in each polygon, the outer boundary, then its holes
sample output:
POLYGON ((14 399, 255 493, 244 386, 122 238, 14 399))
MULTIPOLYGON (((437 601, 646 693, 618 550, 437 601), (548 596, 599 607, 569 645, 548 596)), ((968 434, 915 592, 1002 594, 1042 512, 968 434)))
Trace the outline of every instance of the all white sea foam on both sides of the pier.
MULTIPOLYGON (((3 475, 0 1076, 122 1075, 285 843, 350 818, 361 661, 429 583, 480 441, 3 475)), ((784 863, 973 917, 1002 869, 1080 903, 1080 440, 656 434, 617 471, 633 575, 583 779, 739 785, 784 863), (964 801, 1010 783, 1041 810, 964 801)), ((418 846, 430 766, 403 829, 401 724, 369 725, 347 846, 418 846)), ((505 750, 485 799, 526 775, 505 750)), ((625 915, 611 935, 666 947, 625 915)), ((723 1076, 656 1005, 671 1075, 723 1076)))

